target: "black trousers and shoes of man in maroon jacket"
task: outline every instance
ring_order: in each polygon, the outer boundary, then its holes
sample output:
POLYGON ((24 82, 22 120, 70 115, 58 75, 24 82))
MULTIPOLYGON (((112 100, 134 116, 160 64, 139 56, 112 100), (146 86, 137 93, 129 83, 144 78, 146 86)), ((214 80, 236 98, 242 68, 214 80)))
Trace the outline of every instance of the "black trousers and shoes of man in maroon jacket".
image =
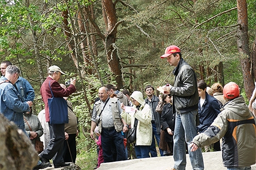
POLYGON ((65 124, 49 123, 50 142, 40 156, 46 159, 52 159, 53 164, 64 163, 62 157, 63 142, 65 141, 65 124))

